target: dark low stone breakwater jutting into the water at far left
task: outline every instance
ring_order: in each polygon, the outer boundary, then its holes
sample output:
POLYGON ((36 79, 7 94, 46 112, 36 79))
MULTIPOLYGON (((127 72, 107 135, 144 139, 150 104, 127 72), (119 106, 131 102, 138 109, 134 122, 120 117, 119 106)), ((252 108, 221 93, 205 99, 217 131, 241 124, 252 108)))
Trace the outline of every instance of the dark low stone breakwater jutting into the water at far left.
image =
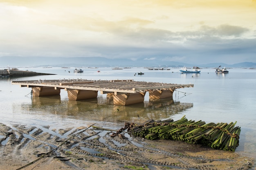
POLYGON ((2 69, 0 75, 9 75, 10 77, 36 76, 36 75, 54 75, 49 73, 37 73, 34 71, 21 71, 16 69, 2 69))

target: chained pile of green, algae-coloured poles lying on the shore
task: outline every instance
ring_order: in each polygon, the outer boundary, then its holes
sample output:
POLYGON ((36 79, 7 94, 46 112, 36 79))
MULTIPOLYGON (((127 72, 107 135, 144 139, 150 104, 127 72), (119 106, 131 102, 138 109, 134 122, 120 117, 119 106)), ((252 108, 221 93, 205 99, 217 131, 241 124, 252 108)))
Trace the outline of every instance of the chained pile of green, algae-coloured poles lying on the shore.
POLYGON ((209 123, 192 121, 182 117, 173 121, 146 121, 143 124, 130 124, 128 129, 132 135, 146 139, 169 139, 191 144, 203 144, 214 149, 235 151, 239 144, 240 127, 236 122, 209 123))

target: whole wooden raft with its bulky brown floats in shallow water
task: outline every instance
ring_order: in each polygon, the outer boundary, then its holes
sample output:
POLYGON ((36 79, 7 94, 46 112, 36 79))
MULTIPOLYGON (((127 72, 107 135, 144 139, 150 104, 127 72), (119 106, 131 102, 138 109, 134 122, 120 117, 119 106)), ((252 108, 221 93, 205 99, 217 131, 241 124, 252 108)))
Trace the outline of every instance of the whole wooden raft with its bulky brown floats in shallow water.
POLYGON ((20 85, 20 87, 32 88, 33 95, 35 96, 56 95, 59 94, 60 89, 65 89, 65 91, 68 92, 68 97, 70 100, 96 98, 98 91, 100 91, 101 94, 111 93, 111 95, 114 97, 115 105, 128 105, 144 102, 144 95, 146 92, 149 92, 150 98, 154 99, 172 97, 175 89, 194 86, 193 84, 136 82, 130 79, 39 79, 30 81, 12 81, 12 84, 20 85), (41 89, 47 89, 47 93, 41 89))

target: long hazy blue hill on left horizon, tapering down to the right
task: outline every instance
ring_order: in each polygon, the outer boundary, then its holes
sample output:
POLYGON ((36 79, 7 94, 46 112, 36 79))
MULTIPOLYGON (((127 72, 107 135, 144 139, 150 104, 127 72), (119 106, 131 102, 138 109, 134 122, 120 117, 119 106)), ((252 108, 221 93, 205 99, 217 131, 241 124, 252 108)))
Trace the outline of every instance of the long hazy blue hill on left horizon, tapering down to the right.
POLYGON ((105 57, 0 57, 0 67, 74 66, 74 67, 123 67, 123 66, 184 66, 186 63, 153 60, 108 59, 105 57))

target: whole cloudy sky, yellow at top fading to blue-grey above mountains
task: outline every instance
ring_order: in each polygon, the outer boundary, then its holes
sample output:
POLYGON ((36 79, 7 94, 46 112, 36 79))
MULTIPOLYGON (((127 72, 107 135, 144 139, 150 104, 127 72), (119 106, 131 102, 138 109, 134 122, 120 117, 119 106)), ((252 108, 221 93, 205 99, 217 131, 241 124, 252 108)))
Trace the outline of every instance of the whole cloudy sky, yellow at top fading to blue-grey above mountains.
POLYGON ((256 62, 256 0, 0 0, 0 57, 256 62))

